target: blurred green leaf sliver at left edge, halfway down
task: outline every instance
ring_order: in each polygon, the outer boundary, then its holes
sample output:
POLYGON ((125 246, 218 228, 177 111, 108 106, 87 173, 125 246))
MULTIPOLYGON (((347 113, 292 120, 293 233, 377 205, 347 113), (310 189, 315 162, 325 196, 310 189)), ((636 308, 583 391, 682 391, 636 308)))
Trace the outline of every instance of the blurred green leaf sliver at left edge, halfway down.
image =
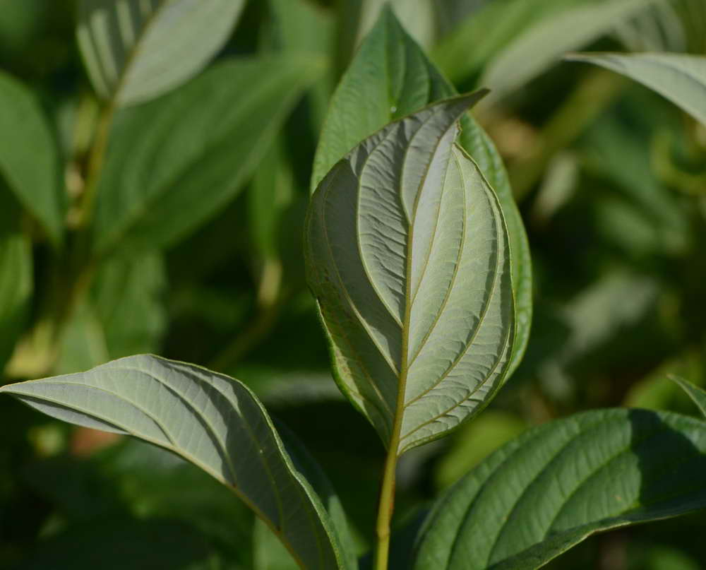
POLYGON ((19 222, 20 208, 0 181, 0 374, 25 326, 34 288, 32 247, 19 222))

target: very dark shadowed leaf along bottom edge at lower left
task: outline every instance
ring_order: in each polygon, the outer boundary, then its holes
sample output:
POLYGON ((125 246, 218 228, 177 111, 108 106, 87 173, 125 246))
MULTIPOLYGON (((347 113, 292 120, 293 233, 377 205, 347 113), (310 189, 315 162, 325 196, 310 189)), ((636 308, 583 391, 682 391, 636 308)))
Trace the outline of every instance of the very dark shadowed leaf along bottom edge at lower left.
POLYGON ((11 570, 208 570, 210 552, 184 523, 108 519, 40 542, 11 570))

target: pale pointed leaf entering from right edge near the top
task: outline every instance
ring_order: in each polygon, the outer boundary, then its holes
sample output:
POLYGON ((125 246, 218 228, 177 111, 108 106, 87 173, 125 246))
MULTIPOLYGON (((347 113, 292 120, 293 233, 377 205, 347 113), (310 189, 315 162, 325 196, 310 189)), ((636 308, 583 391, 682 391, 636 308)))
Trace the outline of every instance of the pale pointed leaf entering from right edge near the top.
POLYGON ((685 54, 571 54, 628 76, 664 95, 706 125, 706 57, 685 54))

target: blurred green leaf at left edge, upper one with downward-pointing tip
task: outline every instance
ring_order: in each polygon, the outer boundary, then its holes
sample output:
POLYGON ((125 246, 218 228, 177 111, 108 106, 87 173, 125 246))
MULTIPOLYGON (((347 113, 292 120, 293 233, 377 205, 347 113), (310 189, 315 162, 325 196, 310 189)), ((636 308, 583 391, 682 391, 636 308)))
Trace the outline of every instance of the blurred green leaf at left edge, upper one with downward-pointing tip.
POLYGON ((32 92, 2 71, 0 132, 6 133, 0 137, 0 176, 49 239, 60 244, 65 205, 52 130, 32 92))

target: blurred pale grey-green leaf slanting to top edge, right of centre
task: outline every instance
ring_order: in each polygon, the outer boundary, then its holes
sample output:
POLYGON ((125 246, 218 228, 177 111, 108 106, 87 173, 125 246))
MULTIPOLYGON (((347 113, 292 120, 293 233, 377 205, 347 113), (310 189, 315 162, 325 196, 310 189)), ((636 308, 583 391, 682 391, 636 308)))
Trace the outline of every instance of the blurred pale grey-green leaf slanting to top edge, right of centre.
POLYGON ((560 61, 563 54, 590 44, 656 0, 607 0, 568 8, 517 35, 485 69, 479 85, 501 97, 560 61), (532 57, 527 57, 532 54, 532 57))

